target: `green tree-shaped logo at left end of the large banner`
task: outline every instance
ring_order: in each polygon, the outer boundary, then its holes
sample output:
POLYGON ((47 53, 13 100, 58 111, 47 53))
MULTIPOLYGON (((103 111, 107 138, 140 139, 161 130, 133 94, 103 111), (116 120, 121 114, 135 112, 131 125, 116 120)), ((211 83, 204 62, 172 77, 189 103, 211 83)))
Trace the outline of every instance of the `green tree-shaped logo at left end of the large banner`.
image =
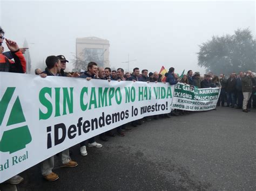
POLYGON ((0 101, 0 126, 2 126, 2 122, 8 107, 12 108, 6 127, 10 125, 17 125, 15 129, 4 131, 3 136, 0 139, 1 152, 14 153, 22 150, 32 140, 28 125, 19 125, 20 123, 26 122, 21 102, 19 101, 19 96, 16 97, 13 105, 9 105, 14 91, 15 87, 8 87, 2 97, 2 100, 0 101))

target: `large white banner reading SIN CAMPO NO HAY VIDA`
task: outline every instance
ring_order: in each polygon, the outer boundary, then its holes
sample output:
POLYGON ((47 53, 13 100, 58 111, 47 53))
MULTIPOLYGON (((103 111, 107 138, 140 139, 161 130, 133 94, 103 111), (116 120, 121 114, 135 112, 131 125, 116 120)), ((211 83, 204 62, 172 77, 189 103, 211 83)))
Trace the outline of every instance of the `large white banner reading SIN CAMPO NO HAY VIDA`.
POLYGON ((83 140, 166 114, 173 86, 0 72, 0 182, 83 140))

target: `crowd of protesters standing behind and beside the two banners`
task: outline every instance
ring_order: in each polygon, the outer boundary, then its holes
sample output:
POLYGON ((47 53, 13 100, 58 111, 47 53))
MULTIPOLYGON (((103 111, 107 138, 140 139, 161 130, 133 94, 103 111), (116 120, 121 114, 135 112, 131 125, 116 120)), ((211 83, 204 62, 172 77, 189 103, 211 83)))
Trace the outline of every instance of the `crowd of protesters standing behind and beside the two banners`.
MULTIPOLYGON (((19 48, 15 41, 4 38, 4 31, 0 27, 0 72, 12 72, 12 73, 25 73, 26 71, 26 60, 23 56, 25 48, 19 48), (4 52, 2 43, 4 42, 9 48, 9 52, 4 52)), ((192 70, 188 70, 187 74, 183 76, 178 76, 174 73, 174 68, 171 67, 169 72, 165 76, 161 76, 158 72, 150 72, 147 69, 143 69, 140 73, 139 68, 134 68, 132 73, 125 73, 123 68, 118 68, 117 70, 111 70, 111 68, 98 67, 96 62, 90 62, 87 65, 87 71, 83 73, 66 73, 66 63, 69 62, 66 60, 64 55, 58 56, 48 56, 46 58, 46 68, 36 69, 35 74, 41 75, 41 77, 46 76, 65 76, 65 77, 80 77, 82 79, 91 80, 108 80, 108 81, 141 81, 141 82, 154 82, 161 83, 162 78, 165 77, 163 83, 170 83, 171 85, 178 82, 190 84, 198 88, 214 88, 218 87, 221 89, 220 97, 218 100, 217 106, 231 107, 242 109, 244 112, 250 111, 250 108, 256 108, 256 89, 255 89, 255 74, 250 70, 246 73, 239 72, 232 73, 228 78, 224 74, 215 76, 212 73, 200 76, 199 72, 193 73, 192 70), (225 105, 226 103, 226 105, 225 105)), ((183 110, 173 110, 170 114, 167 115, 158 115, 145 117, 131 122, 131 126, 136 127, 137 125, 142 125, 145 121, 151 121, 152 119, 158 119, 159 117, 168 117, 170 116, 179 116, 184 115, 188 111, 183 110)), ((129 125, 125 124, 117 127, 116 129, 110 130, 106 133, 99 135, 99 138, 107 142, 109 138, 106 136, 114 137, 125 136, 124 131, 132 131, 129 128, 129 125)), ((80 154, 85 156, 87 155, 86 146, 88 147, 102 147, 103 145, 96 142, 95 137, 85 140, 80 143, 80 154)), ((66 149, 61 153, 58 153, 58 157, 62 163, 62 167, 76 167, 78 164, 76 161, 71 160, 70 151, 66 149)), ((41 172, 43 177, 48 181, 55 181, 59 176, 52 172, 54 167, 54 156, 41 162, 41 172)), ((12 184, 18 184, 23 181, 23 178, 19 175, 12 177, 6 182, 12 184)))

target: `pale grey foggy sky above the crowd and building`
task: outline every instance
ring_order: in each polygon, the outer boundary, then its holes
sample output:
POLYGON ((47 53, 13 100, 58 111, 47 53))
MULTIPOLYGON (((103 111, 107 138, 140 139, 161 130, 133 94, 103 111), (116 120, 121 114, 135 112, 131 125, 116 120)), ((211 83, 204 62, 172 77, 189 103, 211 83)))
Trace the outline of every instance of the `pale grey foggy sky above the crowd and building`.
MULTIPOLYGON (((28 41, 32 69, 48 55, 71 60, 76 38, 110 41, 111 67, 127 65, 159 72, 161 66, 193 69, 198 45, 213 35, 249 28, 255 37, 255 2, 25 2, 1 1, 5 37, 22 47, 28 41)), ((5 46, 6 47, 6 46, 5 46)), ((5 49, 6 50, 6 49, 5 49)), ((68 69, 73 68, 68 63, 68 69)), ((44 69, 44 68, 42 68, 44 69)), ((31 70, 33 73, 33 70, 31 70)))

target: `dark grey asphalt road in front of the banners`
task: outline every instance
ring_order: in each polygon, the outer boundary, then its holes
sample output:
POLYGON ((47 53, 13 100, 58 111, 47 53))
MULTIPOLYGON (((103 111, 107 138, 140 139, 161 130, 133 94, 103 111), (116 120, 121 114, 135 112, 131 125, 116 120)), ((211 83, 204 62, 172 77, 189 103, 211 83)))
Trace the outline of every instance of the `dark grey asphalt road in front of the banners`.
MULTIPOLYGON (((78 166, 60 168, 56 158, 55 182, 42 178, 39 165, 28 169, 17 189, 256 190, 255 138, 256 109, 218 107, 152 120, 87 148, 87 156, 72 147, 78 166)), ((6 183, 0 189, 11 190, 6 183)))

